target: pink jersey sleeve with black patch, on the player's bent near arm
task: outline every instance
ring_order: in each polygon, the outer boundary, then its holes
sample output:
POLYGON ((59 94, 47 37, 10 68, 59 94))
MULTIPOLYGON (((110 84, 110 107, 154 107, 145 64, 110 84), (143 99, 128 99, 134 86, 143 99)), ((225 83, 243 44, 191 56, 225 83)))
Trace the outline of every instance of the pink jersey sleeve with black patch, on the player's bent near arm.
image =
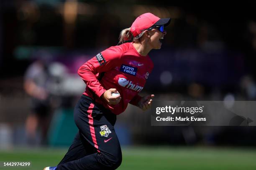
POLYGON ((78 70, 79 76, 84 80, 87 87, 100 97, 106 89, 97 80, 96 75, 106 72, 118 65, 122 52, 118 46, 110 47, 85 62, 78 70))

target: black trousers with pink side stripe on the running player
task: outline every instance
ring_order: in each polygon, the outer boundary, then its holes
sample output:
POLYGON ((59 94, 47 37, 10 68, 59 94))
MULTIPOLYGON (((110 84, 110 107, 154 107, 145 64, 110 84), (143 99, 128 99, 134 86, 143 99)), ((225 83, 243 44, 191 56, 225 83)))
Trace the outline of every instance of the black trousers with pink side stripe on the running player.
POLYGON ((115 170, 122 162, 116 115, 82 95, 74 108, 79 132, 57 170, 115 170))

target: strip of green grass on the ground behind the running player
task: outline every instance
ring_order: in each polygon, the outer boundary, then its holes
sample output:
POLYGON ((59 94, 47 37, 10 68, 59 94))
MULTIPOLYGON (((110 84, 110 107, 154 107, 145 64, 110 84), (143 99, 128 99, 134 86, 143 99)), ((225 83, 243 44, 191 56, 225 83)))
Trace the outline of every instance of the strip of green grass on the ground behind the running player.
MULTIPOLYGON (((26 168, 0 170, 42 170, 59 163, 66 150, 13 149, 0 151, 0 161, 30 162, 26 168)), ((256 170, 256 148, 123 148, 123 163, 118 170, 256 170)))

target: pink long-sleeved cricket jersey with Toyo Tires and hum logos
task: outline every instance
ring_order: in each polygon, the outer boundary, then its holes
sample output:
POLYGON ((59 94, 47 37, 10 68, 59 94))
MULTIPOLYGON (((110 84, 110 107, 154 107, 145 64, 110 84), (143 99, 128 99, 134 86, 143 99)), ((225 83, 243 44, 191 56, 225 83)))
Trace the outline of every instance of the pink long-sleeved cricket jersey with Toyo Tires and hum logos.
POLYGON ((78 74, 86 83, 84 95, 103 105, 116 115, 122 113, 128 103, 136 105, 154 64, 150 57, 140 55, 133 42, 109 47, 85 62, 78 74), (104 73, 104 74, 103 74, 104 73), (108 105, 100 96, 108 89, 116 88, 121 100, 108 105))

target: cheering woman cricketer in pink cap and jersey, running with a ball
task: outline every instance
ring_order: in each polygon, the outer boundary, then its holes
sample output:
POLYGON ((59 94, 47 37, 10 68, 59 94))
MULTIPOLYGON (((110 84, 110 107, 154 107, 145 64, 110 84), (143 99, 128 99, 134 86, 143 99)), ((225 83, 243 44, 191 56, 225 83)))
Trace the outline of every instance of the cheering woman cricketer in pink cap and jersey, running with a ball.
POLYGON ((85 62, 78 74, 86 90, 74 108, 79 129, 67 154, 56 167, 44 170, 115 170, 122 162, 116 115, 128 103, 147 110, 154 95, 138 93, 148 79, 153 62, 148 56, 160 49, 170 18, 160 19, 151 13, 140 15, 121 31, 119 45, 109 47, 85 62))

